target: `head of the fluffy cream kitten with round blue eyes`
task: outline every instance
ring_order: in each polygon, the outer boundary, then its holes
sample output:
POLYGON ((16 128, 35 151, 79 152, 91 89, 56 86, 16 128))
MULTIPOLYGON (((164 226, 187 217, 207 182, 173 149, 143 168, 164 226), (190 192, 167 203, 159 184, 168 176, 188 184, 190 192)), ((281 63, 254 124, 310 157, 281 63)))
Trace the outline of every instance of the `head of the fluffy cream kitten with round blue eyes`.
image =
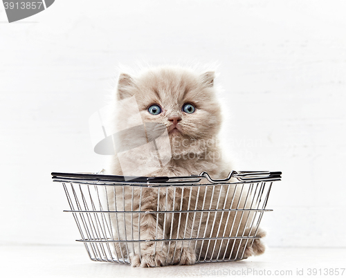
MULTIPOLYGON (((194 73, 187 68, 151 68, 138 76, 121 73, 118 100, 136 97, 143 122, 165 124, 172 155, 203 152, 215 143, 221 111, 215 97, 214 72, 194 73)), ((126 109, 121 121, 131 119, 126 109)))

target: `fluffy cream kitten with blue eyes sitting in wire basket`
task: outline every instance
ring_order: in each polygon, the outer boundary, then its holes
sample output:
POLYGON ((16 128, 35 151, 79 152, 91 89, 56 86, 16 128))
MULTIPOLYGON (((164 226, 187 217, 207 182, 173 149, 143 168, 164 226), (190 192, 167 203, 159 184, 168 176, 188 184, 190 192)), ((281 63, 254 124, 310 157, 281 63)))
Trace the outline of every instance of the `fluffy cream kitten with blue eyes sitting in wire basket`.
MULTIPOLYGON (((137 76, 121 73, 118 79, 117 99, 126 100, 135 97, 141 120, 144 123, 157 122, 167 127, 170 138, 170 154, 172 158, 147 176, 190 176, 208 172, 212 178, 226 178, 230 165, 221 156, 217 141, 217 133, 221 126, 221 111, 215 95, 215 73, 212 71, 197 73, 188 68, 163 66, 149 68, 137 76)), ((118 129, 131 127, 136 118, 131 106, 118 107, 113 113, 113 124, 118 129)), ((120 138, 118 144, 131 142, 131 134, 120 138)), ((133 139, 133 140, 139 140, 133 139)), ((156 153, 148 157, 136 154, 132 149, 127 153, 128 161, 157 159, 156 153)), ((112 156, 106 174, 123 175, 118 156, 112 156)), ((124 168, 123 168, 124 169, 124 168)), ((140 176, 138 169, 133 169, 132 176, 140 176)), ((227 208, 249 208, 247 198, 235 185, 217 185, 212 187, 120 187, 108 191, 111 210, 206 210, 227 208), (116 196, 116 197, 115 197, 116 196), (134 198, 131 198, 134 196, 134 198), (207 198, 203 198, 207 196, 207 198), (125 197, 125 201, 122 197, 125 197), (141 203, 139 202, 141 198, 141 203)), ((245 192, 246 193, 246 192, 245 192)), ((182 239, 200 237, 240 237, 253 236, 254 231, 246 228, 244 219, 252 217, 248 212, 228 213, 181 213, 172 214, 112 214, 113 237, 125 239, 182 239), (208 216, 207 216, 208 215, 208 216), (173 217, 173 219, 172 219, 173 217), (140 218, 140 219, 138 219, 140 218), (140 227, 138 221, 140 220, 140 227), (137 225, 136 225, 137 224, 137 225), (233 226, 239 226, 238 229, 233 226), (226 229, 225 232, 224 228, 226 229), (251 234, 250 234, 251 233, 251 234)), ((264 237, 262 230, 257 237, 264 237)), ((239 241, 239 240, 238 240, 239 241)), ((253 244, 235 241, 175 241, 145 242, 116 245, 118 257, 129 256, 132 266, 156 267, 170 264, 189 265, 197 259, 217 259, 219 254, 229 257, 244 257, 262 254, 264 245, 260 239, 253 244), (244 250, 245 248, 245 250, 244 250), (215 251, 216 250, 216 251, 215 251)))

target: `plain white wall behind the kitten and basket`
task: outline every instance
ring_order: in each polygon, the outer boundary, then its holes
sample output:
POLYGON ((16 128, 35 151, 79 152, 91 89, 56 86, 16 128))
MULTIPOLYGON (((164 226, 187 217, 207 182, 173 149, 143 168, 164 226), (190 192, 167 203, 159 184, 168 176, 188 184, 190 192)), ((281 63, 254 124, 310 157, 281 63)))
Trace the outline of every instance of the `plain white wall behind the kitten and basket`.
POLYGON ((50 173, 93 172, 88 120, 115 66, 219 62, 237 169, 283 172, 272 246, 346 246, 345 1, 67 1, 6 24, 0 6, 0 243, 73 243, 50 173), (124 2, 124 3, 123 3, 124 2), (28 22, 35 23, 28 23, 28 22))

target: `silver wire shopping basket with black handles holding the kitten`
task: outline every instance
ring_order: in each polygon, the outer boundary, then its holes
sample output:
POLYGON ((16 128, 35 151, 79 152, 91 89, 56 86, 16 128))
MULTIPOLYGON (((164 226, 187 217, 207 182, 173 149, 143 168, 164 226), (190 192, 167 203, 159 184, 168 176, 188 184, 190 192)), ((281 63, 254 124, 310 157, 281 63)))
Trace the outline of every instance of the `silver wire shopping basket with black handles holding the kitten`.
POLYGON ((93 261, 131 264, 161 254, 163 265, 246 259, 260 238, 271 185, 281 172, 231 172, 225 179, 197 176, 126 177, 52 173, 93 261))

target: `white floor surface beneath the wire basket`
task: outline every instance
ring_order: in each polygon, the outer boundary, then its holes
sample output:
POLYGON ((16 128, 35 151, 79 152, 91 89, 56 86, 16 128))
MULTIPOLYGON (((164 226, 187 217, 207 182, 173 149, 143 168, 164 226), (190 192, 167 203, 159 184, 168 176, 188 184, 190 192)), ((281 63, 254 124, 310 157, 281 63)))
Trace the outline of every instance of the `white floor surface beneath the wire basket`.
POLYGON ((217 276, 346 276, 345 248, 268 248, 244 261, 194 266, 131 268, 89 259, 83 245, 0 246, 1 277, 217 277, 217 276), (327 275, 327 269, 329 275, 327 275), (344 272, 343 272, 344 268, 344 272), (338 269, 338 270, 336 270, 338 269), (298 271, 298 272, 297 272, 298 271), (313 275, 316 271, 317 275, 313 275), (333 271, 333 272, 331 272, 333 271), (336 275, 336 271, 339 272, 336 275), (341 275, 343 272, 343 275, 341 275), (321 273, 321 275, 320 275, 321 273), (333 275, 332 275, 333 273, 333 275))

